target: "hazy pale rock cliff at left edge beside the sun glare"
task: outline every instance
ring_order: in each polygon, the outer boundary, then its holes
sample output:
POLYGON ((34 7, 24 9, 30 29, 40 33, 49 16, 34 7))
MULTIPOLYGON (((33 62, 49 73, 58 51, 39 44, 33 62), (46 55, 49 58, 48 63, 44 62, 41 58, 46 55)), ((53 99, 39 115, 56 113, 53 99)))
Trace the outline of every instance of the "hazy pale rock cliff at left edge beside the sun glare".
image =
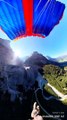
POLYGON ((8 40, 0 38, 0 64, 21 64, 21 60, 15 56, 8 40))

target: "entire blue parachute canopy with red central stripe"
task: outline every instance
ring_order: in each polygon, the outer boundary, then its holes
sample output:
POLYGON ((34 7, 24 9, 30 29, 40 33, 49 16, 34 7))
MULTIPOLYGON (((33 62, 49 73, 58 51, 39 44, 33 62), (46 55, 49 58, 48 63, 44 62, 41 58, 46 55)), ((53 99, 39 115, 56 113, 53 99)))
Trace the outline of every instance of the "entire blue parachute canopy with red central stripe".
POLYGON ((0 0, 0 28, 13 40, 46 37, 62 18, 65 5, 56 0, 0 0))

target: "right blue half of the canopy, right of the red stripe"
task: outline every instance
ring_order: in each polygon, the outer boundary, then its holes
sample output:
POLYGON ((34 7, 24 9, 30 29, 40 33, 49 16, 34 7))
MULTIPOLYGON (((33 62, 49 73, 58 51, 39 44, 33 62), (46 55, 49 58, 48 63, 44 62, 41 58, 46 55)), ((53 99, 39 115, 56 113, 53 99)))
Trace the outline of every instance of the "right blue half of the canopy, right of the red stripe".
POLYGON ((34 0, 34 33, 49 35, 63 15, 65 5, 56 0, 34 0))

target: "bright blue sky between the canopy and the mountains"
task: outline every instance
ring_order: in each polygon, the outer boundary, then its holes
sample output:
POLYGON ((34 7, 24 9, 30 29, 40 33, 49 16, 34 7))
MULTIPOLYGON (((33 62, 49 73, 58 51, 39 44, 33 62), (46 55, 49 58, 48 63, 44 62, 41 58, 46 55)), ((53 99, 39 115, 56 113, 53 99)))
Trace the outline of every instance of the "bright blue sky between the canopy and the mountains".
POLYGON ((44 56, 56 58, 67 54, 67 0, 58 0, 65 3, 65 11, 60 23, 54 27, 48 37, 25 37, 17 41, 11 41, 8 36, 0 30, 0 38, 10 41, 11 48, 21 58, 30 56, 37 51, 44 56))

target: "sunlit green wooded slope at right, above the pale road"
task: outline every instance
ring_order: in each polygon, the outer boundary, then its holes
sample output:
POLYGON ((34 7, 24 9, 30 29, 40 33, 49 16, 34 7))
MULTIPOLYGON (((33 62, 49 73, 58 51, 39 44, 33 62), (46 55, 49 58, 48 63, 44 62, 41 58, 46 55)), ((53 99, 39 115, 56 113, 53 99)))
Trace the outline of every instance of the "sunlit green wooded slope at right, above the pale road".
MULTIPOLYGON (((60 92, 67 94, 67 71, 64 71, 64 69, 51 64, 45 65, 43 70, 44 78, 46 78, 48 82, 60 92)), ((45 89, 47 89, 47 91, 49 91, 51 94, 55 95, 47 86, 45 89)))

